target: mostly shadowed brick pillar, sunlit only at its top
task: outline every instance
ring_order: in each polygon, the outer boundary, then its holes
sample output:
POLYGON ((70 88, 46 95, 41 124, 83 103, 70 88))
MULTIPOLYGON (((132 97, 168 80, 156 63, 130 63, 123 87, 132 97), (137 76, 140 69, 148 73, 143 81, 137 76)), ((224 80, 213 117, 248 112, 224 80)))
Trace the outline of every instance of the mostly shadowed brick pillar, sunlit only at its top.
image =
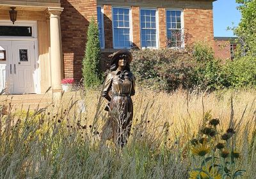
POLYGON ((104 5, 105 48, 113 49, 112 6, 104 5))

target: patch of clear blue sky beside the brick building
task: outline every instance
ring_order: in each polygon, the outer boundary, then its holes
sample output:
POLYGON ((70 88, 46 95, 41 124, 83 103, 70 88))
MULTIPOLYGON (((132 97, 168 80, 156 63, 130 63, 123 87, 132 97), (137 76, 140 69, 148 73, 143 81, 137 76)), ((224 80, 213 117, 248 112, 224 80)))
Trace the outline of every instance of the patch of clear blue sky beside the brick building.
POLYGON ((227 27, 237 26, 241 20, 241 13, 236 7, 236 0, 217 0, 213 3, 214 36, 234 36, 227 27))

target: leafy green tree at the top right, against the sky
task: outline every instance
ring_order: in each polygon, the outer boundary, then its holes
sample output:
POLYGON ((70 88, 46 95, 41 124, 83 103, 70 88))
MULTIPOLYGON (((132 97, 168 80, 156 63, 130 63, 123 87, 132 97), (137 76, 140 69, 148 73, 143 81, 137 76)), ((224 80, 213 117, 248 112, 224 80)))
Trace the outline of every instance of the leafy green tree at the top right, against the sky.
POLYGON ((256 56, 256 0, 236 0, 242 18, 234 33, 247 54, 256 56))

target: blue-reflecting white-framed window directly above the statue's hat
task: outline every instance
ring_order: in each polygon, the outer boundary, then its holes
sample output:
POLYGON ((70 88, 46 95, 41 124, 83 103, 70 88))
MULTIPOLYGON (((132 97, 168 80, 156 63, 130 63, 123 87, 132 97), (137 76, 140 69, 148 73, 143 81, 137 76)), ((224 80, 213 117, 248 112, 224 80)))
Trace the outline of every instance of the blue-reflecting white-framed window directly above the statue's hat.
POLYGON ((131 24, 129 8, 113 8, 113 43, 114 48, 131 47, 131 24))

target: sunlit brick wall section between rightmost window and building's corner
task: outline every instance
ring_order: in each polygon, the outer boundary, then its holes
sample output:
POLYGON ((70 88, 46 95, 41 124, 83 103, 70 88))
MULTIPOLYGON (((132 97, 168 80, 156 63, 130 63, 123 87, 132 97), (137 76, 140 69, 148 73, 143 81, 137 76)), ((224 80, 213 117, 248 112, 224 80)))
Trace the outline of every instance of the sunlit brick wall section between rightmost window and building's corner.
POLYGON ((184 34, 186 43, 203 41, 214 49, 212 10, 184 9, 184 34))

